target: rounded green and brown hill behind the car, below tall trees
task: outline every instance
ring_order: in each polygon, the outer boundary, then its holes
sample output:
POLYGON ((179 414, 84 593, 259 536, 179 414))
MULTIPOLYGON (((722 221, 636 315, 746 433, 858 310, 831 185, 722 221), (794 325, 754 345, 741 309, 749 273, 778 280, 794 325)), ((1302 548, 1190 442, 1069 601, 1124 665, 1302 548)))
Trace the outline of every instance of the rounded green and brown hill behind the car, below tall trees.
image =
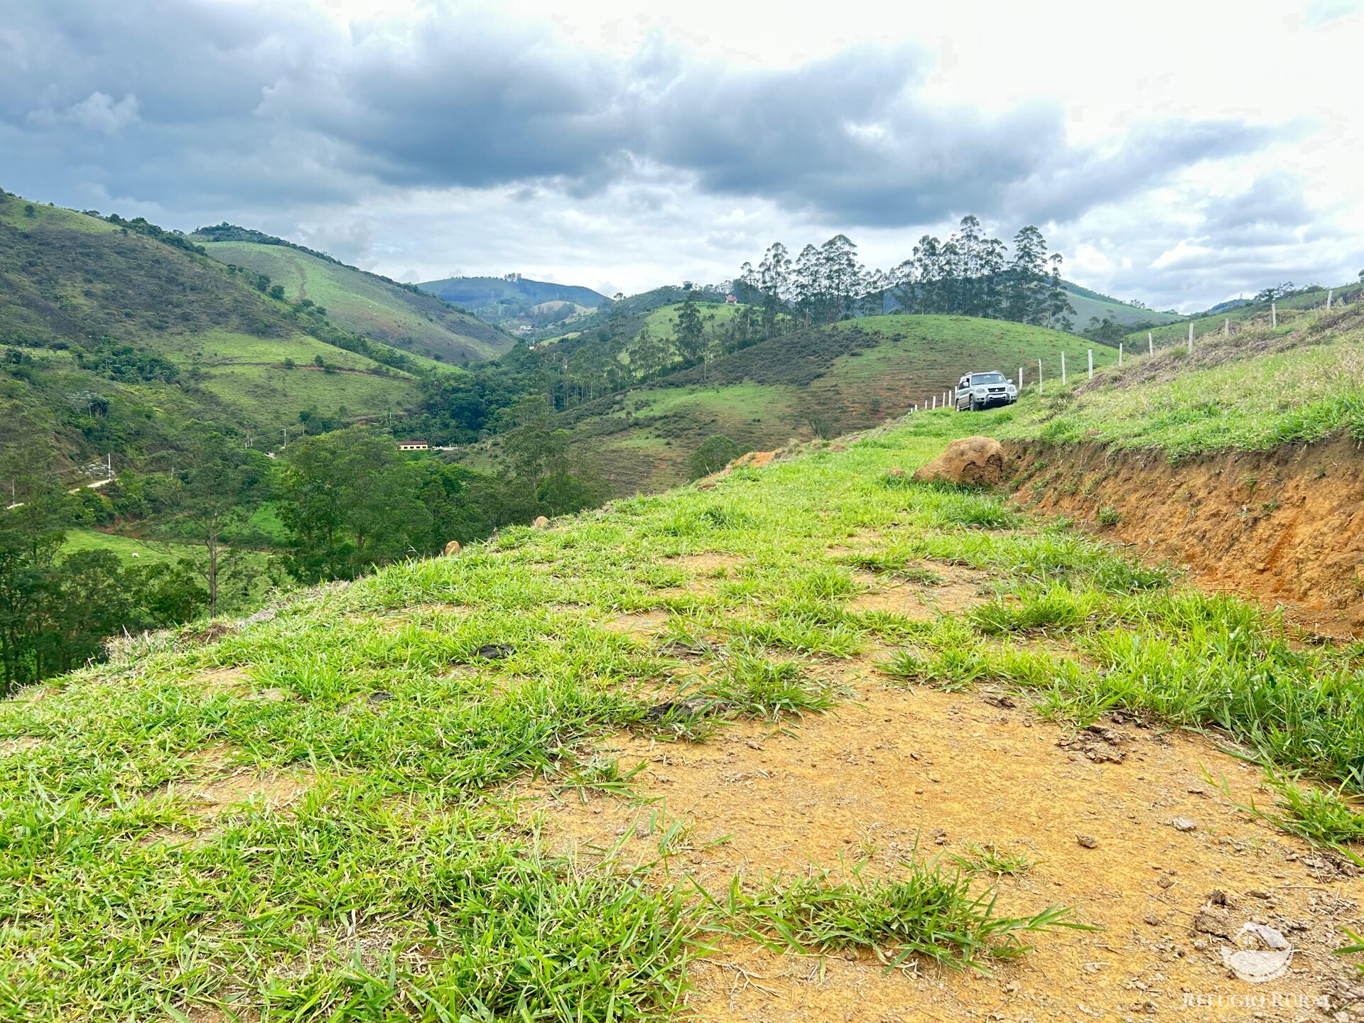
MULTIPOLYGON (((649 315, 663 327, 672 310, 649 315)), ((692 451, 713 434, 743 450, 836 436, 899 416, 971 370, 1013 378, 1022 366, 1033 382, 1038 359, 1058 376, 1064 352, 1079 374, 1086 348, 1073 334, 1008 321, 870 316, 762 341, 708 368, 582 405, 565 421, 617 492, 652 491, 685 479, 692 451)), ((1097 366, 1117 357, 1091 348, 1097 366)))

